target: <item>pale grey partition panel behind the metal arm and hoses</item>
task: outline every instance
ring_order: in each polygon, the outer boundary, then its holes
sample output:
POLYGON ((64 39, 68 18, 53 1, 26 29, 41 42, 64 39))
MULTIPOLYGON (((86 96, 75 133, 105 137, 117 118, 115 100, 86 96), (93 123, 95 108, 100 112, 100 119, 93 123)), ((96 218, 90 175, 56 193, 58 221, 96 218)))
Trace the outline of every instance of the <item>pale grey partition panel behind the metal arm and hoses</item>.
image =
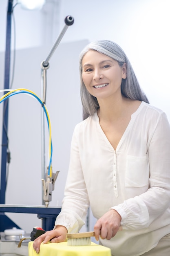
MULTIPOLYGON (((78 56, 87 43, 87 40, 61 43, 47 70, 46 107, 51 119, 52 166, 53 172, 60 170, 50 207, 62 204, 71 137, 75 125, 82 121, 78 56)), ((14 88, 29 89, 41 97, 40 63, 47 54, 44 47, 17 50, 14 88)), ((2 55, 1 53, 0 58, 3 58, 2 55)), ((2 79, 1 76, 0 79, 2 79)), ((2 106, 1 104, 1 112, 2 106)), ((11 163, 6 204, 42 204, 41 110, 42 107, 38 100, 29 97, 28 94, 14 95, 9 99, 8 137, 11 163)), ((48 166, 49 131, 46 119, 45 128, 45 160, 46 166, 48 166)), ((1 127, 0 130, 2 130, 1 127)), ((38 226, 40 223, 36 215, 29 215, 27 218, 24 217, 24 214, 8 213, 7 215, 27 232, 30 232, 30 226, 38 226)))

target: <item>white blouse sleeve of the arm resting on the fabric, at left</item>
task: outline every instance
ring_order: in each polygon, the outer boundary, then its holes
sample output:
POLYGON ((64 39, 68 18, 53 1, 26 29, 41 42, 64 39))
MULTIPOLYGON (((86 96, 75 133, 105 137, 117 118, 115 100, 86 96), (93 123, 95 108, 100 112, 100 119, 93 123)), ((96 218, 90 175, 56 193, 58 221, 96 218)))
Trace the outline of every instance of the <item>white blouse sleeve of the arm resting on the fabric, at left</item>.
POLYGON ((57 217, 55 225, 64 225, 68 232, 78 232, 85 223, 88 207, 88 193, 82 173, 77 138, 74 132, 62 212, 57 217))

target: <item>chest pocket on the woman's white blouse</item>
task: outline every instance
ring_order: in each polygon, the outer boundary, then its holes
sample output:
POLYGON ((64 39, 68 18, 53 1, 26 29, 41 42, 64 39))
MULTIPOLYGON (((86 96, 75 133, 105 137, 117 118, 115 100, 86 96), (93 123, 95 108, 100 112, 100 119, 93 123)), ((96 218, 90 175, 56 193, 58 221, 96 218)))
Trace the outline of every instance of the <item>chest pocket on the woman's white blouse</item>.
POLYGON ((128 155, 126 159, 125 186, 143 187, 149 184, 148 157, 128 155))

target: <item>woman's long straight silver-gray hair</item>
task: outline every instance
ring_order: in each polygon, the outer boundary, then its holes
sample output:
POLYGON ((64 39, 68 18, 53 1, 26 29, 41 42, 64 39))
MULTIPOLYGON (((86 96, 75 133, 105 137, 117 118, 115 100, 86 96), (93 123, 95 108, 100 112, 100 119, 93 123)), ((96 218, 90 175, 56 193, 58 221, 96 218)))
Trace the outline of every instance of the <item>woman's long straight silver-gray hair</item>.
POLYGON ((113 58, 115 61, 118 62, 120 67, 124 63, 126 63, 127 77, 126 79, 122 79, 121 81, 121 94, 129 99, 145 101, 146 103, 149 103, 146 95, 140 88, 140 85, 137 81, 137 78, 129 60, 121 47, 119 47, 119 45, 110 40, 97 40, 88 44, 79 55, 79 71, 81 83, 80 95, 83 105, 83 119, 86 119, 88 116, 93 115, 99 108, 97 98, 88 92, 82 79, 82 59, 89 50, 94 50, 99 53, 105 54, 110 58, 113 58))

